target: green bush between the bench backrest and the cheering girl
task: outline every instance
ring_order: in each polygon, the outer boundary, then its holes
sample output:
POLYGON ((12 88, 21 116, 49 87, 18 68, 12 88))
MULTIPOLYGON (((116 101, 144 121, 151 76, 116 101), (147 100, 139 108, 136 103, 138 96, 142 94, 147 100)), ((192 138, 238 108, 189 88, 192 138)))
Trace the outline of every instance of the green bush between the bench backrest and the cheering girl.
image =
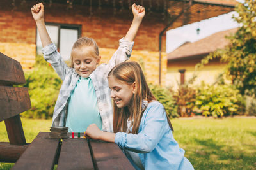
POLYGON ((25 73, 31 109, 22 114, 28 118, 52 118, 61 87, 61 79, 42 56, 36 56, 34 68, 25 73))

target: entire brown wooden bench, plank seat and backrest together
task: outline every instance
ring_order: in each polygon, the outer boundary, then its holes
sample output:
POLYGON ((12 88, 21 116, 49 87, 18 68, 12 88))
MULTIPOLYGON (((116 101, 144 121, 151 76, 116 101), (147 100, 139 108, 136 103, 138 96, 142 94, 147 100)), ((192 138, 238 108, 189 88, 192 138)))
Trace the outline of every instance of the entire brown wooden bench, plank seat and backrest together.
MULTIPOLYGON (((39 132, 26 143, 19 113, 31 108, 28 89, 12 87, 26 80, 19 62, 0 53, 0 122, 9 143, 0 143, 0 162, 15 162, 12 169, 134 169, 115 143, 86 138, 49 138, 39 132)), ((71 136, 71 134, 68 134, 71 136)), ((76 134, 77 136, 77 134, 76 134)))

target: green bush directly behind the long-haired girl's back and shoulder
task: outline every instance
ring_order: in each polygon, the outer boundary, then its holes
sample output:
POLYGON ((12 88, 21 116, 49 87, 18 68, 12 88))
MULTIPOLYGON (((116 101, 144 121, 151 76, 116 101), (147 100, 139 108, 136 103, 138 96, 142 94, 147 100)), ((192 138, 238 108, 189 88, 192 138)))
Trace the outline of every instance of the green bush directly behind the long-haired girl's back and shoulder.
POLYGON ((148 85, 152 94, 156 97, 157 101, 163 104, 169 118, 179 117, 177 114, 177 106, 173 99, 172 93, 159 85, 148 85))

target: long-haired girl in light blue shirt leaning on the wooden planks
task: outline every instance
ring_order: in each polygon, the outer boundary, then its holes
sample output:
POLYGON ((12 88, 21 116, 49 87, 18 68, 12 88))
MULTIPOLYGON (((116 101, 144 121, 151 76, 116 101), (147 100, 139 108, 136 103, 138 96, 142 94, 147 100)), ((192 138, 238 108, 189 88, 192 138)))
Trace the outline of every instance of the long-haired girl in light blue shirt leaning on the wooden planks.
POLYGON ((156 101, 137 62, 123 62, 108 74, 114 102, 114 133, 92 124, 86 136, 115 142, 136 169, 193 169, 173 138, 172 124, 156 101))

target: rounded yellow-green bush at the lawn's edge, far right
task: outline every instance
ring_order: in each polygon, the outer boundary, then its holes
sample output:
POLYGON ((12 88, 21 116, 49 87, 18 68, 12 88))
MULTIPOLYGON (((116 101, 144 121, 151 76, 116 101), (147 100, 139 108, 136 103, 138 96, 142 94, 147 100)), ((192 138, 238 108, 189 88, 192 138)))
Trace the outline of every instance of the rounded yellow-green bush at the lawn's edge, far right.
POLYGON ((202 115, 223 117, 243 111, 243 96, 233 85, 205 85, 197 89, 194 110, 202 115))

